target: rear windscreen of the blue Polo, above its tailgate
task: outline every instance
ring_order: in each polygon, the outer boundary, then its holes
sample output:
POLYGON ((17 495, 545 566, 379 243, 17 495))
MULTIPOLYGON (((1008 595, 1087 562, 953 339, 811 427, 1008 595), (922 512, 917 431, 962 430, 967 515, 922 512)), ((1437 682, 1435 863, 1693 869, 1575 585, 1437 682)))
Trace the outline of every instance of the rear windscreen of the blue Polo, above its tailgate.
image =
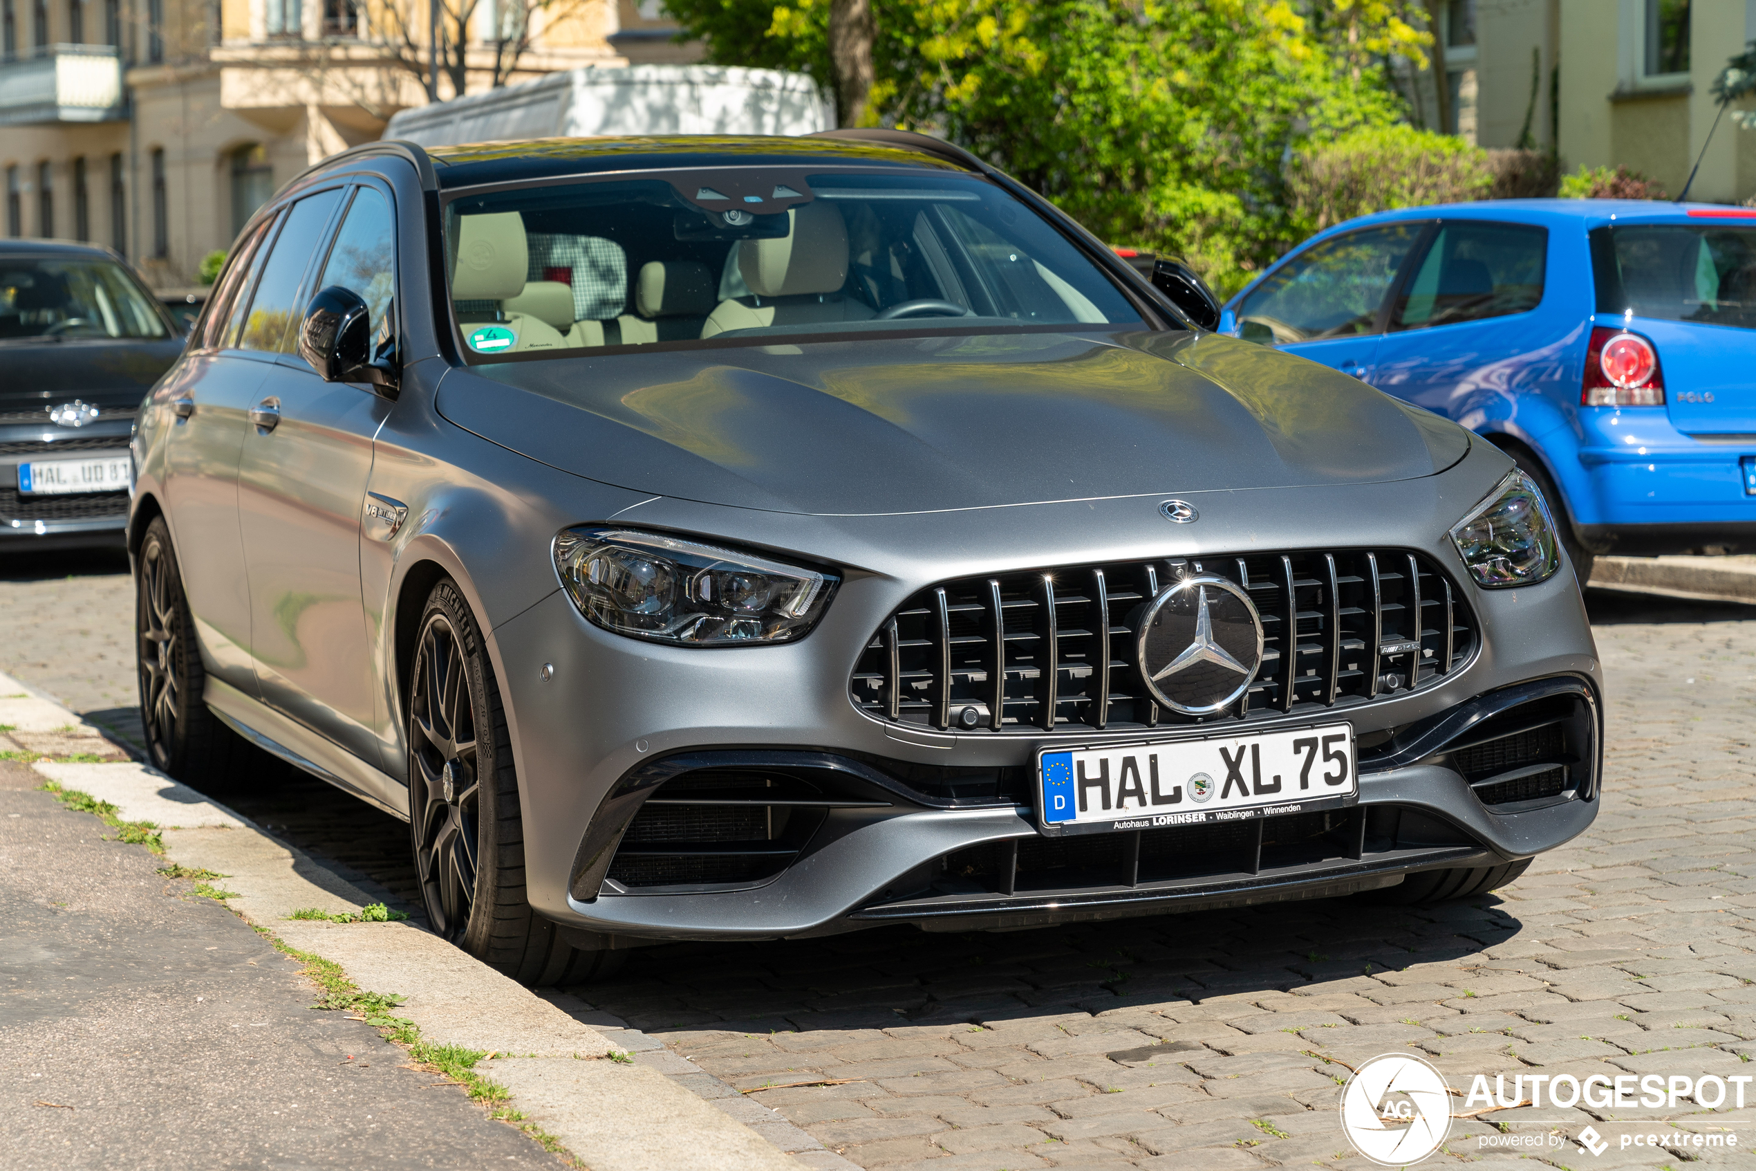
POLYGON ((1756 228, 1593 228, 1598 313, 1756 328, 1756 228))

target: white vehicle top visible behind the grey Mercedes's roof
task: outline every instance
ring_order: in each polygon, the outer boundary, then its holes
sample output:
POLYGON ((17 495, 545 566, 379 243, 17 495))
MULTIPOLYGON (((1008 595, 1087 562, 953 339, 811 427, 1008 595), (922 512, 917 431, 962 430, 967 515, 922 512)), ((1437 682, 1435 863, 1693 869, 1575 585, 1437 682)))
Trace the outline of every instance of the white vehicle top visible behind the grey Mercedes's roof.
POLYGON ((421 146, 581 135, 811 133, 836 125, 806 74, 729 65, 576 68, 395 114, 386 139, 421 146))

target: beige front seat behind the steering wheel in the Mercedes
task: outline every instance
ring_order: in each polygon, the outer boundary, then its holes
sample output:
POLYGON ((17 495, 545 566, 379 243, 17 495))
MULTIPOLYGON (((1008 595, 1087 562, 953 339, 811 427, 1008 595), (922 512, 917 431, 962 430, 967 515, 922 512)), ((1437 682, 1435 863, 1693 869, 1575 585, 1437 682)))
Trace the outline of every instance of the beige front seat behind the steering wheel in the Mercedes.
POLYGON ((702 337, 764 325, 867 321, 876 316, 871 305, 841 291, 848 279, 848 226, 841 209, 813 200, 787 216, 785 237, 738 246, 738 270, 752 295, 722 300, 701 327, 702 337))

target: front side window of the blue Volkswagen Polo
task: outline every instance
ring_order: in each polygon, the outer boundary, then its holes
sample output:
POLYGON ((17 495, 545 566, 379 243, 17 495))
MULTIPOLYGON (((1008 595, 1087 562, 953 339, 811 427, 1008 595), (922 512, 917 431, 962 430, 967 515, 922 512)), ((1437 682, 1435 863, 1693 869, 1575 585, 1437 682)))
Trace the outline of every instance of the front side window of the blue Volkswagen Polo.
POLYGON ((1238 305, 1240 337, 1285 344, 1377 332, 1384 295, 1424 230, 1393 223, 1306 249, 1238 305))

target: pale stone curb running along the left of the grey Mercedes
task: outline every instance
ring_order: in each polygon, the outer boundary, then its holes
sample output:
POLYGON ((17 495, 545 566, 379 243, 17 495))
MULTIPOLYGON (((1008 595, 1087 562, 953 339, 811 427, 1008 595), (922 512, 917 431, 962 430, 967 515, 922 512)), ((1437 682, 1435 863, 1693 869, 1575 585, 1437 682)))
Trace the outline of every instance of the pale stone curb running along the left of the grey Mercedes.
MULTIPOLYGON (((28 692, 0 674, 0 695, 28 692)), ((40 693, 21 716, 83 725, 40 693)), ((248 818, 133 762, 33 765, 162 827, 165 855, 225 874, 216 887, 248 922, 339 964, 369 992, 402 994, 399 1017, 427 1041, 499 1053, 478 1069, 592 1171, 802 1171, 852 1167, 781 1115, 750 1101, 658 1041, 569 995, 536 992, 409 923, 328 923, 295 909, 358 911, 379 899, 248 818), (163 829, 181 825, 183 829, 163 829), (602 1031, 595 1027, 601 1018, 602 1031), (590 1022, 590 1024, 588 1024, 590 1022), (629 1060, 604 1060, 632 1052, 629 1060), (797 1157, 787 1152, 797 1152, 797 1157)))

